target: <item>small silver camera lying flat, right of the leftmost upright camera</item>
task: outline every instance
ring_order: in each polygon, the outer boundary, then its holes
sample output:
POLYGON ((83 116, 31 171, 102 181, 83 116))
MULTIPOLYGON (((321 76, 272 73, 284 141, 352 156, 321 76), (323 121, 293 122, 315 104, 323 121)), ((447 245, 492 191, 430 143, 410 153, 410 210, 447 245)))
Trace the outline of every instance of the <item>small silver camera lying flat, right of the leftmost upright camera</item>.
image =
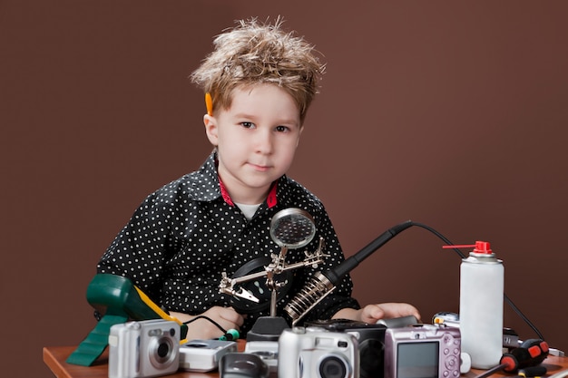
POLYGON ((237 352, 237 343, 227 340, 191 340, 180 346, 180 369, 187 372, 211 372, 220 358, 237 352))

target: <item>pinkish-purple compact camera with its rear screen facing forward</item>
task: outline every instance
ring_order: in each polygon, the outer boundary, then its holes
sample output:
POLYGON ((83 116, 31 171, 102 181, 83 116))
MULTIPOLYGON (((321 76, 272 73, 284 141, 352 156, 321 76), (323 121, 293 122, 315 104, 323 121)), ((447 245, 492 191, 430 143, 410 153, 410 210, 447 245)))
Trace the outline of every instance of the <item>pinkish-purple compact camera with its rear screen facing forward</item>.
POLYGON ((385 333, 385 378, 456 378, 460 359, 459 328, 419 324, 385 333))

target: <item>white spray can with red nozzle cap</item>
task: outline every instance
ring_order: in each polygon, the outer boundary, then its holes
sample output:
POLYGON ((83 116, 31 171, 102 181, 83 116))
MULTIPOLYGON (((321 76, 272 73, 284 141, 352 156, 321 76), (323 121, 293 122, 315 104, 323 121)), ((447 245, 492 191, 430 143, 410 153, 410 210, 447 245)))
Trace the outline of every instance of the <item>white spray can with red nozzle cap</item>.
POLYGON ((459 296, 462 352, 474 368, 494 367, 503 355, 503 296, 503 261, 488 242, 477 241, 460 266, 459 296))

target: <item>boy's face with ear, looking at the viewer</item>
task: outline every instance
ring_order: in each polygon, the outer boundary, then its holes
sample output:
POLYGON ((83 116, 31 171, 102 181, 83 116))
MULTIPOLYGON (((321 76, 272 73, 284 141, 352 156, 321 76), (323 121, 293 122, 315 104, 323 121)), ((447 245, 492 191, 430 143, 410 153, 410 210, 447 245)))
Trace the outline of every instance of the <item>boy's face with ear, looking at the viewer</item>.
POLYGON ((274 84, 235 89, 230 109, 203 121, 217 146, 220 179, 230 198, 244 204, 262 202, 288 171, 303 130, 296 102, 274 84))

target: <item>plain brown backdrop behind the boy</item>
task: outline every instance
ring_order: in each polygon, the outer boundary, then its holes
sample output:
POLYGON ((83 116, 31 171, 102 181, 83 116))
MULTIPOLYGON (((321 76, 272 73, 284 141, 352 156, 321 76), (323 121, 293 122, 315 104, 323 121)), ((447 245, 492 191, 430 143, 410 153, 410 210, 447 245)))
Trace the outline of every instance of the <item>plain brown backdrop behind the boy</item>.
MULTIPOLYGON (((233 20, 283 15, 328 73, 290 176, 346 255, 411 218, 487 240, 505 292, 568 349, 563 1, 0 1, 3 376, 78 344, 98 258, 154 189, 211 150, 187 76, 233 20)), ((458 311, 454 252, 410 228, 353 271, 364 304, 458 311)), ((505 307, 505 325, 534 337, 505 307)))

